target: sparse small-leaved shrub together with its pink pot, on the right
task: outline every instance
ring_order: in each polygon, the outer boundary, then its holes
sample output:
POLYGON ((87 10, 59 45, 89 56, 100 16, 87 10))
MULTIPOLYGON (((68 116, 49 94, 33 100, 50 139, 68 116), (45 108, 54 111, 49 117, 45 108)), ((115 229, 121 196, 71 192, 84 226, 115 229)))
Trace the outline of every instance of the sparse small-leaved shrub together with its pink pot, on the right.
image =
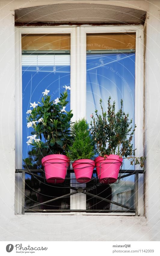
POLYGON ((115 112, 115 101, 111 105, 110 99, 111 97, 108 99, 107 112, 104 112, 100 99, 102 114, 95 110, 96 117, 91 115, 93 120, 90 124, 90 131, 99 154, 95 159, 95 166, 98 178, 103 183, 116 182, 124 157, 130 160, 131 165, 140 164, 140 167, 144 167, 145 160, 143 156, 135 157, 132 138, 136 125, 132 129, 132 119, 129 120, 129 115, 122 110, 123 100, 120 109, 115 112))

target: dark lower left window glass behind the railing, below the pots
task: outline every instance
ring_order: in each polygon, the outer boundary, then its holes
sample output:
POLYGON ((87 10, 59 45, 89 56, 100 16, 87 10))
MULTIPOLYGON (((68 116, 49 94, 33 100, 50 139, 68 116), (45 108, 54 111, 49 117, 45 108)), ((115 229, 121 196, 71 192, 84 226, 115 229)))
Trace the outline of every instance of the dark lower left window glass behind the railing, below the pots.
MULTIPOLYGON (((43 177, 42 172, 34 172, 41 177, 43 177)), ((38 203, 43 203, 48 200, 55 199, 65 194, 70 193, 70 179, 65 179, 65 184, 62 186, 59 184, 46 184, 44 178, 40 179, 34 177, 33 175, 25 175, 25 207, 27 208, 34 206, 38 203), (66 187, 64 187, 64 185, 66 187)), ((31 210, 69 210, 70 209, 70 196, 64 197, 62 199, 55 200, 53 202, 48 202, 46 204, 41 204, 31 208, 31 210)))

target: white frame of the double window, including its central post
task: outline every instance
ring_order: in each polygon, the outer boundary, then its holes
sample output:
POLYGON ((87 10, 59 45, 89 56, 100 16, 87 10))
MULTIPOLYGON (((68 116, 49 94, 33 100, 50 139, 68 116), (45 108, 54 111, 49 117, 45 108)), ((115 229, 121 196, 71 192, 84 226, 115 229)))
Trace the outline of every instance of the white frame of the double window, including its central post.
MULTIPOLYGON (((135 131, 136 155, 143 155, 143 26, 58 26, 58 27, 16 27, 15 28, 15 98, 16 98, 16 134, 15 134, 15 160, 16 169, 22 168, 22 34, 71 34, 71 109, 73 110, 73 121, 86 117, 86 34, 88 33, 136 33, 136 58, 135 58, 135 131)), ((16 199, 17 213, 21 212, 20 179, 16 175, 16 199), (18 183, 17 183, 18 182, 18 183)), ((140 175, 139 175, 140 178, 140 175)), ((71 196, 71 205, 74 209, 85 209, 86 195, 76 194, 71 196), (76 205, 76 208, 75 208, 76 205)), ((73 209, 71 206, 71 209, 73 209)), ((32 213, 34 214, 34 213, 32 213)), ((54 214, 54 213, 53 213, 54 214)), ((57 214, 57 213, 56 213, 57 214)), ((64 213, 65 214, 65 213, 64 213)), ((68 214, 68 213, 67 213, 68 214)), ((73 213, 71 213, 73 215, 73 213)), ((87 214, 87 213, 75 213, 87 214)), ((90 214, 90 213, 88 213, 90 214)), ((96 215, 97 213, 94 213, 96 215)), ((103 213, 103 215, 112 215, 103 213)), ((139 179, 138 215, 144 214, 143 181, 139 179)), ((61 213, 62 215, 62 213, 61 213)), ((121 213, 119 215, 122 215, 121 213)), ((123 214, 124 215, 124 214, 123 214)), ((129 215, 126 213, 126 215, 129 215)), ((133 215, 133 214, 131 214, 133 215)))

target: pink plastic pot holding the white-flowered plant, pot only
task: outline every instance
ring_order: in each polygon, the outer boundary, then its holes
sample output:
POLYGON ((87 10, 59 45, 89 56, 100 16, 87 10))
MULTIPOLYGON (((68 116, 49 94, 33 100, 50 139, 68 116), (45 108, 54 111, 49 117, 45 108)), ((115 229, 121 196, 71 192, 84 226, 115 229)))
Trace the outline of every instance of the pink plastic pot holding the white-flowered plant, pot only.
POLYGON ((65 155, 49 155, 42 158, 42 166, 48 183, 62 183, 65 180, 70 160, 65 155))

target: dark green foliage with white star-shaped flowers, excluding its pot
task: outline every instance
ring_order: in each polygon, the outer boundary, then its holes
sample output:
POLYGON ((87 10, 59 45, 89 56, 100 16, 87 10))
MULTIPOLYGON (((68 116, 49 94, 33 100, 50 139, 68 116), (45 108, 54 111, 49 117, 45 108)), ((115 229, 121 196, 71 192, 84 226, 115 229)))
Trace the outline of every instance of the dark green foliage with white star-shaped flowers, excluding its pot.
POLYGON ((24 167, 37 168, 41 166, 41 159, 50 154, 65 154, 67 147, 71 144, 71 118, 72 111, 65 110, 67 101, 67 89, 60 98, 51 100, 48 96, 49 90, 45 90, 41 103, 30 103, 33 110, 28 110, 27 127, 32 127, 31 136, 28 136, 28 145, 32 150, 28 152, 29 157, 24 159, 24 167), (39 105, 38 105, 39 104, 39 105))

